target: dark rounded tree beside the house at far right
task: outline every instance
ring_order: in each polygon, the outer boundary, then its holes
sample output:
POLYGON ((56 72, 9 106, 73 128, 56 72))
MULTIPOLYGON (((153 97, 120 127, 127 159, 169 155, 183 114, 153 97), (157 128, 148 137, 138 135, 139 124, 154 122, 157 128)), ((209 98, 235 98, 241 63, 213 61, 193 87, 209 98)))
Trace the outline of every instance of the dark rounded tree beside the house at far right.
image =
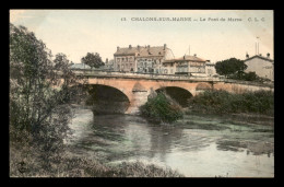
POLYGON ((236 73, 241 74, 247 69, 247 65, 242 60, 230 58, 216 62, 215 68, 218 74, 227 77, 236 73))

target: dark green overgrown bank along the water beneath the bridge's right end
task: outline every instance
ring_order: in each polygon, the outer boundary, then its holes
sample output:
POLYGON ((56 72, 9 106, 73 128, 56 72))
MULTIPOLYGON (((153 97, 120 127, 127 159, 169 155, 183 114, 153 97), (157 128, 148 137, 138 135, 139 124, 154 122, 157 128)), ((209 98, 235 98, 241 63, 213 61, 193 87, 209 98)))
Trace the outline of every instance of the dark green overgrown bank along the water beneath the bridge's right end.
POLYGON ((242 94, 205 91, 189 101, 190 113, 274 115, 274 93, 269 91, 242 94))

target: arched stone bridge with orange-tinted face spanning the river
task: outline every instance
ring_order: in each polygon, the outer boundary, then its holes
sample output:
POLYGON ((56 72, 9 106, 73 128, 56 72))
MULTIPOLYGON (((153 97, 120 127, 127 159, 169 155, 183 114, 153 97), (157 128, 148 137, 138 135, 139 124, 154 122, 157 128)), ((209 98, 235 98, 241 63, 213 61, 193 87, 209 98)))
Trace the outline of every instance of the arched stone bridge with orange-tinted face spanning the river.
MULTIPOLYGON (((252 84, 218 78, 192 78, 185 75, 168 74, 137 74, 119 72, 75 72, 76 75, 86 78, 86 84, 97 87, 98 96, 105 97, 107 105, 116 105, 119 97, 128 103, 125 107, 126 114, 135 114, 139 107, 146 103, 153 91, 166 90, 175 100, 182 105, 186 101, 181 97, 194 96, 205 90, 225 90, 232 93, 244 93, 248 91, 269 90, 274 91, 273 85, 252 84), (103 87, 103 89, 102 89, 103 87), (105 89, 104 89, 105 87, 105 89), (106 95, 108 95, 106 97, 106 95), (181 101, 180 101, 181 100, 181 101), (111 102, 113 101, 113 102, 111 102)), ((99 101, 99 100, 98 100, 99 101)), ((100 101, 102 102, 102 101, 100 101)), ((104 103, 103 103, 104 105, 104 103)), ((102 106, 100 106, 102 107, 102 106)), ((120 107, 120 105, 118 105, 120 107)))

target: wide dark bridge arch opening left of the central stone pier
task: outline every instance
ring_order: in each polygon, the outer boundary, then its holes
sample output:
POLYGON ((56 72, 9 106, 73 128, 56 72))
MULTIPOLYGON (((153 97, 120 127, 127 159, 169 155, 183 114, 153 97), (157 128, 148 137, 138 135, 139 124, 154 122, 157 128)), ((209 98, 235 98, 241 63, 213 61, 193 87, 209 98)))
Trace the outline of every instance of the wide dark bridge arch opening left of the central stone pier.
POLYGON ((130 98, 120 90, 104 84, 88 84, 86 105, 94 114, 125 114, 130 106, 130 98))

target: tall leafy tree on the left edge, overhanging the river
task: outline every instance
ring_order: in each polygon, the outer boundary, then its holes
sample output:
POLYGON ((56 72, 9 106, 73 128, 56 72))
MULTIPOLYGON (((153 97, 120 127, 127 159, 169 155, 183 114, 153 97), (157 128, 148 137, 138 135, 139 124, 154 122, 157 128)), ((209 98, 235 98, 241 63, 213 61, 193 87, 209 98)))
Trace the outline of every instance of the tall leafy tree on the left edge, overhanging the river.
POLYGON ((39 157, 60 153, 69 132, 70 101, 82 80, 69 69, 63 54, 56 55, 24 26, 10 24, 10 141, 25 142, 39 157))

